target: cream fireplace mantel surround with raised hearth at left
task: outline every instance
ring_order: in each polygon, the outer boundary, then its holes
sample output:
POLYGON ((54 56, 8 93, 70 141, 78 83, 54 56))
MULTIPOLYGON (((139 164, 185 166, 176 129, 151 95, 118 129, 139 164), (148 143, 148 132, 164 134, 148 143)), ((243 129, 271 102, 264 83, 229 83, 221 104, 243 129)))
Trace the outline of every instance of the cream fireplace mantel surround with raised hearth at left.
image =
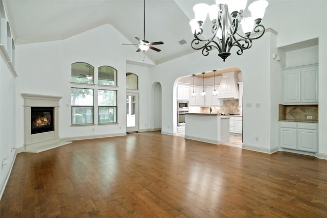
POLYGON ((24 97, 24 152, 38 153, 71 143, 59 139, 59 100, 62 97, 29 93, 21 95, 24 97), (54 108, 54 131, 31 134, 31 107, 54 108))

